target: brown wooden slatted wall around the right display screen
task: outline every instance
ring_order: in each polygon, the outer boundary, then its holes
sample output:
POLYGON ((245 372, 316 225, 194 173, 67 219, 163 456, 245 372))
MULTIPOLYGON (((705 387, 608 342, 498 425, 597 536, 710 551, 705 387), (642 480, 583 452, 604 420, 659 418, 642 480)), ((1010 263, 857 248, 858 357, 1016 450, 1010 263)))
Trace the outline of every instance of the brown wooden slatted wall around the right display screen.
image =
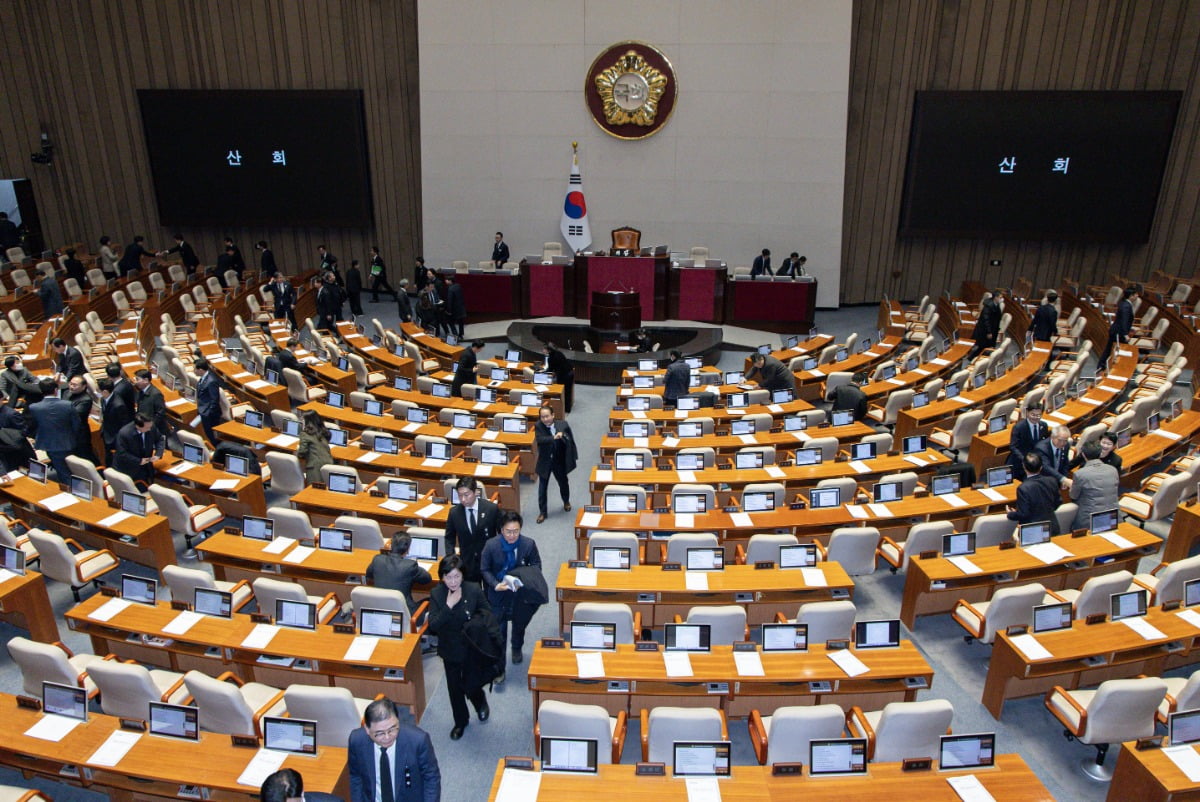
POLYGON ((856 0, 842 303, 956 292, 965 280, 1038 287, 1200 267, 1200 1, 856 0), (1178 89, 1183 106, 1150 241, 1103 245, 900 239, 922 89, 1178 89), (989 261, 1002 259, 1001 268, 989 261))

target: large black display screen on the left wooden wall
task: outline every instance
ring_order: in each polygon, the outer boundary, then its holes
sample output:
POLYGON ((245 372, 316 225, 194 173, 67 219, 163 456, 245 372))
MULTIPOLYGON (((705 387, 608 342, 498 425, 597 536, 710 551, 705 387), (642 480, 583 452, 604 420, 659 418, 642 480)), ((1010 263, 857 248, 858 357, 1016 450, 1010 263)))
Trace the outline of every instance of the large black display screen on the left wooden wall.
POLYGON ((362 92, 138 90, 164 226, 370 226, 362 92))

